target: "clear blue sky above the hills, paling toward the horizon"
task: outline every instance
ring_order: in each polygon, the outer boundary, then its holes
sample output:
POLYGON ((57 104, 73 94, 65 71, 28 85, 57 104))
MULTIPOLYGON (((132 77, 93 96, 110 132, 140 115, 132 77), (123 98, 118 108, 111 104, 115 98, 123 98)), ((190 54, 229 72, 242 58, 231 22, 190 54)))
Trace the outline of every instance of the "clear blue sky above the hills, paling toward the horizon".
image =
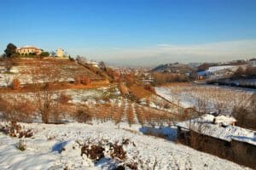
POLYGON ((255 0, 9 0, 0 7, 1 53, 13 42, 142 65, 256 54, 255 0), (216 44, 227 49, 211 54, 216 44))

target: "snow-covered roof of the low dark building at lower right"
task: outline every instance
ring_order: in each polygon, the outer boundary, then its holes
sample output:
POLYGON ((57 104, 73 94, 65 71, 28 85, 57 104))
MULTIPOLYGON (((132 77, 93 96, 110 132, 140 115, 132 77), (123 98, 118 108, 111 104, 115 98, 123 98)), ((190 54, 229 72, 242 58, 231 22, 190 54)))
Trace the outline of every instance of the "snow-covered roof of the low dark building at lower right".
POLYGON ((197 133, 201 132, 218 139, 231 141, 232 139, 248 144, 256 145, 256 132, 246 128, 231 126, 230 122, 235 121, 229 116, 204 115, 186 122, 177 123, 178 127, 191 129, 197 133), (213 123, 213 119, 215 122, 213 123), (225 126, 220 126, 221 124, 225 126))

